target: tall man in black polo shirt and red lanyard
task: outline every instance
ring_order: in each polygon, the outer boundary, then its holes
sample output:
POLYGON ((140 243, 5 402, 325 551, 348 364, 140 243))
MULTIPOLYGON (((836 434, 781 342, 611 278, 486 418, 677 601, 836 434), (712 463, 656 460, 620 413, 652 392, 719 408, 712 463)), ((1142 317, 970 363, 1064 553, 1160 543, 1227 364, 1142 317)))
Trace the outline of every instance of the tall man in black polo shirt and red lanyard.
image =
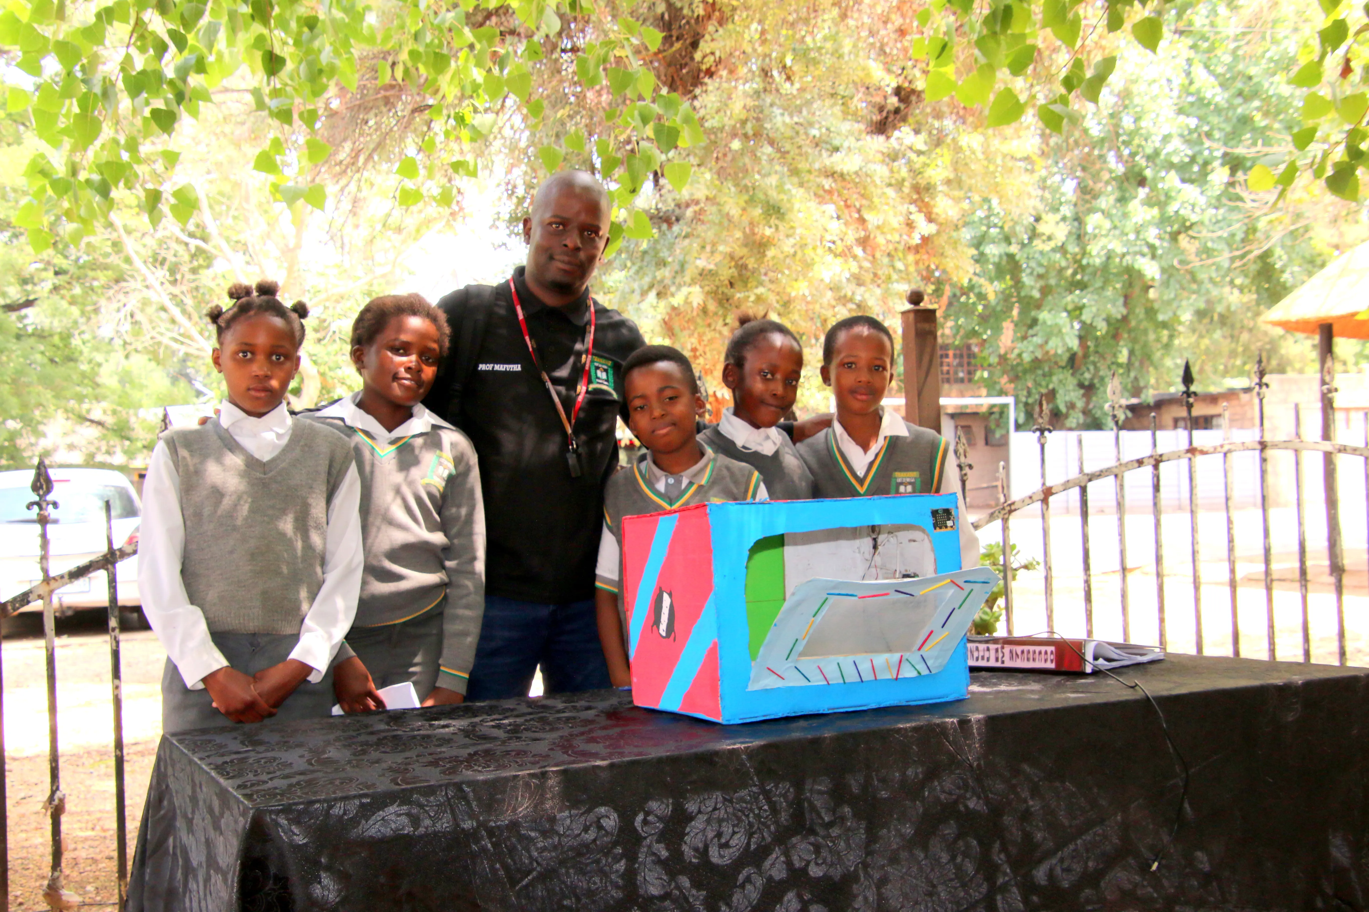
POLYGON ((622 366, 645 345, 589 294, 609 212, 593 176, 554 174, 523 219, 527 265, 438 301, 453 343, 426 405, 471 438, 485 491, 485 623, 468 700, 524 696, 539 665, 548 693, 609 686, 594 561, 622 366))

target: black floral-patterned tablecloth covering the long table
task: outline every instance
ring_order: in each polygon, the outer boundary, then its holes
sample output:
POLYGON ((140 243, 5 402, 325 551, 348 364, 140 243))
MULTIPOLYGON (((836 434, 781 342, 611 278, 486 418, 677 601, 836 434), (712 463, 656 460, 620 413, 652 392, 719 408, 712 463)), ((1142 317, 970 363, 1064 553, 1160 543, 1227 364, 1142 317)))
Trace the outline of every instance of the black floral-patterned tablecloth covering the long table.
POLYGON ((1173 656, 742 726, 605 690, 163 738, 131 909, 1344 909, 1369 671, 1173 656))

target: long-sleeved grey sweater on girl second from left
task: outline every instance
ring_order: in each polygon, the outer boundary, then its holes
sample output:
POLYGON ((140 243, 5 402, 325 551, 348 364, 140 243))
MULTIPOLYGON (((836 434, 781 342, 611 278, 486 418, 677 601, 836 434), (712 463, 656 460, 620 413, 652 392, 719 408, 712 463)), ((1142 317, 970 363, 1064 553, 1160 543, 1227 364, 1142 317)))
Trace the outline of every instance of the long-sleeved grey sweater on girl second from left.
POLYGON ((376 444, 342 418, 300 417, 346 435, 356 455, 366 570, 353 626, 416 618, 445 595, 437 686, 465 693, 485 618, 485 506, 470 439, 434 425, 376 444))

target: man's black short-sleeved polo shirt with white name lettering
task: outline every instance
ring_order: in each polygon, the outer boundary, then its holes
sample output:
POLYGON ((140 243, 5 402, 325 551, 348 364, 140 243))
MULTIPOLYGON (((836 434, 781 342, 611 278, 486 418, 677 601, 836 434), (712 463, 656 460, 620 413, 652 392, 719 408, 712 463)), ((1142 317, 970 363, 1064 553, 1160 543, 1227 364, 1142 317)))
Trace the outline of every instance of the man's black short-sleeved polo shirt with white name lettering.
MULTIPOLYGON (((513 282, 528 335, 570 417, 585 371, 589 294, 550 308, 528 290, 523 267, 513 272, 513 282)), ((456 336, 478 306, 476 298, 490 309, 483 338, 474 343, 472 364, 457 386, 444 371, 427 405, 471 438, 481 461, 485 591, 523 602, 590 599, 604 526, 604 483, 617 465, 623 361, 646 343, 635 323, 596 302, 594 364, 575 423, 583 472, 574 479, 565 461, 565 428, 528 356, 508 282, 494 286, 493 304, 487 291, 472 294, 468 287, 448 294, 438 306, 456 336)))

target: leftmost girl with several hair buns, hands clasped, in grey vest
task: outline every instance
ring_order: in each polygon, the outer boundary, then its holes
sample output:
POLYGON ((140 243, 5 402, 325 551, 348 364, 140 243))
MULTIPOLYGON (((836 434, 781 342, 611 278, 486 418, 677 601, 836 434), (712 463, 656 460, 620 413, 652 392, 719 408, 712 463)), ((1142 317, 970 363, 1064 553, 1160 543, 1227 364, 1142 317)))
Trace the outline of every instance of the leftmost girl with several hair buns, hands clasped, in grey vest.
POLYGON ((167 651, 162 729, 329 715, 330 667, 361 584, 352 444, 294 421, 309 310, 274 282, 209 308, 218 417, 167 431, 142 489, 138 587, 167 651))

